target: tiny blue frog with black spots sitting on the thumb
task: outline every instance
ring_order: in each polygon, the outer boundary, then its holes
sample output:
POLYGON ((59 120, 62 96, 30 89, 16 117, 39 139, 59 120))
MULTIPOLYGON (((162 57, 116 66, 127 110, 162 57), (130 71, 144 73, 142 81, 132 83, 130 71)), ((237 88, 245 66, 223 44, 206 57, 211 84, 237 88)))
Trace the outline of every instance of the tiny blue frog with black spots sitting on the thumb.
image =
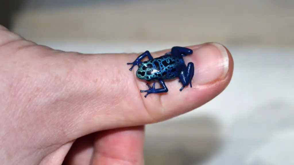
POLYGON ((168 88, 164 80, 172 80, 179 78, 178 82, 182 83, 180 91, 190 84, 192 88, 192 79, 194 76, 194 63, 189 62, 187 65, 183 57, 193 54, 193 50, 181 46, 173 46, 171 51, 165 53, 164 55, 153 58, 151 53, 146 50, 144 53, 140 54, 136 60, 132 63, 127 63, 127 65, 132 65, 129 69, 132 71, 133 67, 138 65, 136 72, 136 77, 141 80, 146 80, 147 82, 153 82, 152 87, 147 83, 148 90, 140 90, 140 92, 147 92, 144 96, 151 93, 166 93, 168 88), (149 60, 141 61, 143 58, 148 57, 149 60), (161 88, 155 89, 155 83, 158 81, 161 88))

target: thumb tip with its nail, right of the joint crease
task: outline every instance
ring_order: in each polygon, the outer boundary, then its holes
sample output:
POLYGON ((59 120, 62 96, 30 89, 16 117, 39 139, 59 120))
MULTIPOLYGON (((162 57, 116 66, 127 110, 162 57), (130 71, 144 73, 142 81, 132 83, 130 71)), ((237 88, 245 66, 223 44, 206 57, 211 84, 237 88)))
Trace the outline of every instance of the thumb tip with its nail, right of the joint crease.
POLYGON ((145 100, 149 114, 156 121, 172 118, 194 110, 219 95, 230 83, 233 58, 230 51, 219 43, 189 46, 193 54, 184 57, 185 63, 195 66, 191 88, 182 87, 178 81, 167 80, 168 93, 150 95, 145 100), (158 104, 150 104, 150 100, 158 104), (159 101, 157 101, 159 100, 159 101), (161 105, 161 108, 158 108, 161 105))

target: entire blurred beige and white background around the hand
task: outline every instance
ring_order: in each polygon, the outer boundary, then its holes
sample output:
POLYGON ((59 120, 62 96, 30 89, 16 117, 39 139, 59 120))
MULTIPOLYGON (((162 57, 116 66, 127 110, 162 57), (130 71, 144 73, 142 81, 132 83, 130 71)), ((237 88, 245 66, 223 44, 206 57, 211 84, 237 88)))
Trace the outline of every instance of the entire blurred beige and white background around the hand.
POLYGON ((4 0, 0 23, 82 53, 222 43, 235 62, 230 85, 147 125, 146 165, 293 165, 293 9, 293 0, 4 0))

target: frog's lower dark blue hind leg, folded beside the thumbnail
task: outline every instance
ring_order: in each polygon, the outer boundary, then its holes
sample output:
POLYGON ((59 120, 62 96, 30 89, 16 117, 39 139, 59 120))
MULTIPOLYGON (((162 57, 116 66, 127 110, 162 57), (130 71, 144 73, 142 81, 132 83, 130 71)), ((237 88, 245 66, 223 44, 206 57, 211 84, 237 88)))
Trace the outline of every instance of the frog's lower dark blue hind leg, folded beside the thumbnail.
POLYGON ((192 79, 194 76, 194 64, 192 62, 188 63, 187 67, 184 67, 181 71, 181 74, 179 75, 179 82, 183 84, 183 87, 180 89, 182 91, 185 86, 189 85, 192 87, 192 79))

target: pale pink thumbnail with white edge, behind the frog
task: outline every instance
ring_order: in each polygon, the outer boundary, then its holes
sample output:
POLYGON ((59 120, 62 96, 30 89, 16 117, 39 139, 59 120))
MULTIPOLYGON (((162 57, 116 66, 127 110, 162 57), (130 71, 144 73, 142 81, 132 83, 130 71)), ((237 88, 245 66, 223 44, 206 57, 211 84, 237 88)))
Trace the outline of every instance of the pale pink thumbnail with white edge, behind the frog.
POLYGON ((227 50, 219 43, 208 43, 193 50, 195 66, 193 81, 203 85, 225 78, 229 69, 227 50))

